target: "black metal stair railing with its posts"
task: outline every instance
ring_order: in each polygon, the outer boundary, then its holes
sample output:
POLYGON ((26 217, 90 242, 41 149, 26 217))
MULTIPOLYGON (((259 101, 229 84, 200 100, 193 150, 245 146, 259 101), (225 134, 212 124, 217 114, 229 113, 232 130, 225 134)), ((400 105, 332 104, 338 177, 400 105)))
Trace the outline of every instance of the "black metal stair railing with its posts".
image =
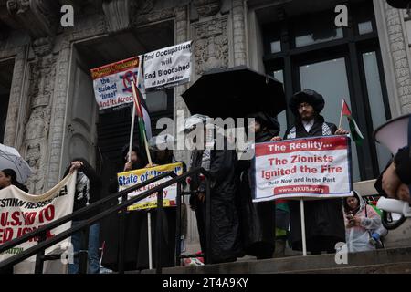
MULTIPOLYGON (((125 249, 121 248, 120 246, 123 246, 125 244, 124 241, 124 235, 125 235, 125 228, 126 228, 126 220, 125 219, 125 213, 127 211, 127 208, 134 204, 134 203, 138 203, 141 200, 147 198, 149 195, 153 194, 153 193, 161 193, 163 194, 163 189, 166 187, 169 187, 171 185, 173 185, 174 183, 180 183, 182 182, 185 178, 192 176, 195 173, 201 172, 203 174, 205 174, 205 177, 208 177, 208 173, 205 172, 205 170, 203 168, 197 168, 195 170, 189 171, 189 172, 184 172, 184 174, 177 176, 174 172, 166 172, 163 173, 153 179, 150 179, 144 183, 139 183, 135 186, 130 187, 127 190, 123 190, 121 192, 118 193, 114 193, 110 196, 107 196, 103 199, 101 199, 99 202, 97 203, 92 203, 90 206, 87 206, 85 208, 82 208, 76 212, 73 212, 72 214, 67 214, 47 225, 41 226, 39 228, 37 228, 35 231, 32 231, 26 235, 22 235, 18 238, 15 238, 3 245, 0 245, 0 254, 4 253, 6 250, 9 250, 10 248, 14 248, 18 245, 21 245, 23 243, 26 243, 29 240, 34 240, 36 239, 38 241, 37 245, 34 245, 32 247, 27 248, 26 250, 24 250, 23 252, 21 252, 18 255, 14 255, 10 258, 5 259, 4 261, 0 262, 0 270, 3 271, 8 271, 7 269, 15 266, 19 263, 21 263, 22 261, 26 260, 27 258, 29 258, 30 256, 33 255, 37 255, 37 262, 36 262, 36 268, 35 268, 35 272, 37 273, 42 273, 43 272, 43 266, 44 266, 44 261, 46 260, 55 260, 60 258, 61 255, 47 255, 45 256, 45 250, 53 245, 57 245, 59 242, 67 239, 68 237, 81 232, 84 228, 86 227, 90 227, 90 225, 95 224, 97 222, 99 222, 101 219, 104 219, 112 214, 119 214, 119 212, 121 212, 122 216, 123 216, 123 220, 122 220, 122 224, 121 224, 121 228, 120 228, 120 234, 122 233, 122 235, 119 237, 119 241, 122 241, 119 244, 119 250, 121 249, 121 253, 122 255, 119 256, 119 270, 123 273, 124 272, 124 253, 125 253, 125 249), (131 198, 130 200, 127 199, 128 197, 128 193, 131 193, 133 191, 136 191, 138 189, 141 189, 143 186, 145 185, 149 185, 151 183, 155 183, 159 180, 162 180, 163 178, 167 177, 167 176, 171 176, 172 179, 164 182, 156 187, 154 187, 151 190, 145 191, 133 198, 131 198), (89 214, 91 212, 91 210, 96 209, 97 207, 99 207, 100 205, 102 205, 103 203, 108 203, 113 199, 118 199, 120 196, 123 197, 123 202, 120 204, 116 204, 111 206, 108 210, 102 211, 99 214, 96 214, 94 216, 92 216, 90 219, 85 220, 82 223, 79 223, 76 226, 71 226, 71 228, 68 228, 68 230, 63 231, 61 233, 59 233, 58 235, 55 235, 53 237, 47 238, 47 233, 50 230, 53 230, 55 228, 57 228, 58 226, 61 226, 62 224, 66 224, 70 221, 72 221, 74 218, 79 217, 80 215, 85 215, 85 214, 89 214), (122 237, 122 240, 121 240, 122 237)), ((181 193, 180 193, 181 195, 181 193)), ((158 227, 157 227, 157 235, 158 238, 160 238, 160 241, 158 241, 158 246, 156 246, 158 248, 159 251, 161 251, 161 247, 162 247, 162 243, 161 243, 161 235, 162 235, 162 228, 163 228, 163 195, 160 195, 158 197, 158 206, 159 206, 159 222, 158 222, 158 227)), ((181 205, 181 203, 180 203, 181 205)), ((181 212, 180 212, 180 219, 181 219, 181 212)), ((181 222, 180 222, 180 228, 181 228, 181 222)), ((87 236, 88 238, 88 236, 87 236)), ((84 245, 86 246, 86 245, 84 245)), ((157 263, 159 263, 159 265, 157 265, 157 272, 158 273, 162 273, 162 261, 161 261, 161 252, 157 253, 157 263)), ((181 257, 181 256, 180 256, 181 257)))

